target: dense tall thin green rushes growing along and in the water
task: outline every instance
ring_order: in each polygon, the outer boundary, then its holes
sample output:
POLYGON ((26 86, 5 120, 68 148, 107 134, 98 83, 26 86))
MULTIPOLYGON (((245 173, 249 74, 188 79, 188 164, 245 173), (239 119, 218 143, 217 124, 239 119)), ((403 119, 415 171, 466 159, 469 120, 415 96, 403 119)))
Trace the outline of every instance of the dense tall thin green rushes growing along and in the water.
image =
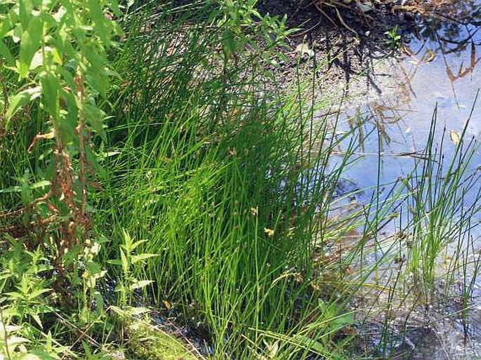
MULTIPOLYGON (((386 356, 400 334, 390 314, 435 301, 440 280, 448 298, 462 279, 467 309, 479 268, 468 241, 479 224, 479 173, 469 167, 476 142, 461 134, 447 159, 434 116, 411 174, 389 184, 378 176, 362 189, 372 194, 367 204, 338 196, 363 133, 339 135, 339 119, 319 116, 338 98, 318 99, 301 66, 280 90, 256 51, 225 63, 216 16, 211 6, 139 12, 112 53, 119 77, 104 104, 107 142, 94 140, 105 173, 91 194, 93 234, 110 239, 100 256, 114 284, 121 274, 107 260, 119 259, 125 232, 147 240, 138 253, 157 255, 132 268, 152 286, 123 302, 176 314, 178 326, 195 319, 216 359, 349 359, 357 328, 372 318, 386 356), (333 156, 339 148, 344 155, 333 156), (394 231, 383 236, 385 227, 394 231)), ((15 128, 0 158, 1 189, 36 174, 41 147, 25 150, 42 131, 15 128)), ((0 210, 17 202, 3 192, 0 210)), ((105 298, 121 302, 108 285, 105 298)))

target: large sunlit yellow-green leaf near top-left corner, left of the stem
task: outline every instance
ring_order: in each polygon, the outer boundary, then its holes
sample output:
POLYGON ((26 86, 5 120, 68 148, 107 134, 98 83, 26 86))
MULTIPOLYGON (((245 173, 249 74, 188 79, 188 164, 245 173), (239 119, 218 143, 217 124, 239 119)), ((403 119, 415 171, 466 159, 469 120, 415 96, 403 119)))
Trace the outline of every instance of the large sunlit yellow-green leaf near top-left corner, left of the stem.
POLYGON ((42 31, 40 18, 37 16, 31 18, 20 40, 20 53, 18 55, 20 79, 27 77, 30 62, 32 62, 32 58, 40 45, 42 31))

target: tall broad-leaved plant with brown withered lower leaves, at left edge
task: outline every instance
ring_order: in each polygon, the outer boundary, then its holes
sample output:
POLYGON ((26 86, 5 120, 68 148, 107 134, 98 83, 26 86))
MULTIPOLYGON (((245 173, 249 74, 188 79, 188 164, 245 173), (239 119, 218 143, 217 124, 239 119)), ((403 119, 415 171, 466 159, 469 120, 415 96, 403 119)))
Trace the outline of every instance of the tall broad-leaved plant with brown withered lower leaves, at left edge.
POLYGON ((122 36, 114 20, 120 15, 117 0, 0 5, 0 63, 17 78, 3 102, 0 140, 15 121, 32 121, 31 112, 42 119, 41 132, 32 137, 27 151, 41 147, 48 154, 45 168, 32 182, 50 186, 36 192, 35 199, 22 197, 22 217, 27 231, 29 225, 37 229, 32 248, 50 249, 62 281, 77 267, 75 254, 83 253, 87 239, 89 183, 103 174, 93 155, 93 139, 105 139, 105 113, 99 104, 114 74, 107 51, 122 36))

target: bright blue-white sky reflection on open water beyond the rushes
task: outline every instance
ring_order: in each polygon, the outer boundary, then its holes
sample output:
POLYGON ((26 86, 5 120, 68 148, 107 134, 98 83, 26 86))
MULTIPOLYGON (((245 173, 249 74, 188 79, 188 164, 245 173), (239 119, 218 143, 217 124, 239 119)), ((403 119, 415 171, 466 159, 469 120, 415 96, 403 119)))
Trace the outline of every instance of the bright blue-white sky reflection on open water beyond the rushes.
MULTIPOLYGON (((426 145, 435 107, 439 135, 443 126, 448 133, 460 133, 471 111, 467 135, 479 138, 481 134, 480 101, 473 109, 477 89, 481 88, 481 1, 426 1, 424 11, 435 16, 411 29, 404 44, 404 60, 393 69, 399 81, 395 95, 367 105, 378 124, 385 154, 420 152, 426 145)), ((374 137, 367 138, 363 145, 367 154, 378 151, 374 137)), ((448 145, 447 153, 453 148, 454 144, 448 145)), ((405 175, 411 162, 409 156, 390 156, 384 161, 383 180, 405 175)), ((477 154, 473 162, 474 166, 480 164, 481 155, 477 154)), ((375 161, 372 164, 376 166, 375 161)), ((371 166, 359 166, 356 175, 353 180, 358 180, 360 187, 376 182, 371 166)))

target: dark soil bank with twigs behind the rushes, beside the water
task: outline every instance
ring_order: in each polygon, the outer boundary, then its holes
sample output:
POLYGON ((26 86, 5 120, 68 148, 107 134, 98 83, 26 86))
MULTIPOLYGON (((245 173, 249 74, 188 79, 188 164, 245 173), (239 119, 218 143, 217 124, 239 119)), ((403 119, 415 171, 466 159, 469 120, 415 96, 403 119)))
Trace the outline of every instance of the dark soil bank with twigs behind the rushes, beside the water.
POLYGON ((394 88, 393 67, 397 65, 400 53, 386 43, 385 33, 396 25, 400 29, 409 28, 414 23, 414 15, 392 13, 390 7, 382 5, 376 5, 367 13, 355 11, 355 8, 352 11, 341 8, 339 15, 334 8, 325 6, 322 9, 324 15, 311 0, 258 2, 260 13, 286 15, 289 28, 300 29, 287 39, 289 49, 283 52, 289 61, 280 62, 279 68, 272 68, 278 79, 290 83, 295 75, 293 69, 301 57, 301 63, 308 71, 319 67, 319 63, 323 64, 316 74, 318 79, 322 79, 319 81, 321 91, 334 86, 345 88, 350 95, 377 98, 394 88), (308 44, 315 51, 316 59, 296 52, 299 44, 308 44), (356 80, 355 86, 351 84, 353 79, 356 80))

